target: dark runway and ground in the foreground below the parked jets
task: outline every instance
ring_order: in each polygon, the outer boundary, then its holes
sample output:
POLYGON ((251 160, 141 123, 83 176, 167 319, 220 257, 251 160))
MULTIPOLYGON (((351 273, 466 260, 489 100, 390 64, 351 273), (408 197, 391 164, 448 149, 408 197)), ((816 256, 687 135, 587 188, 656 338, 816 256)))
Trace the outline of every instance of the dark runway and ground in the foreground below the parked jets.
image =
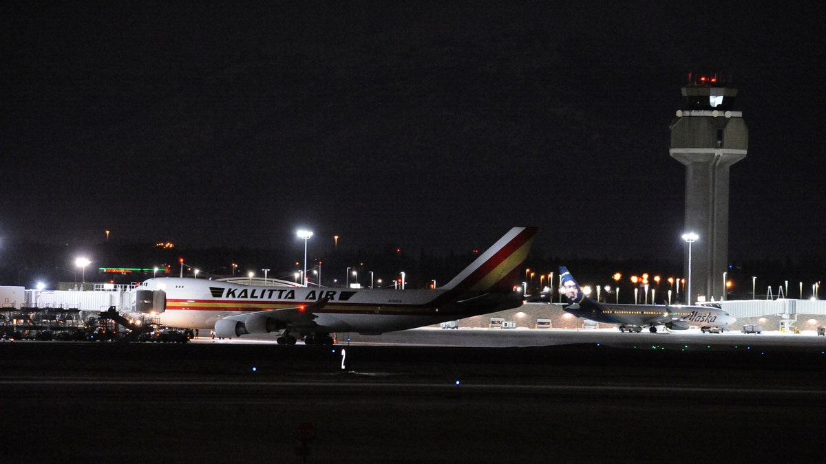
POLYGON ((5 457, 822 460, 824 337, 425 329, 346 338, 326 348, 0 343, 5 457))

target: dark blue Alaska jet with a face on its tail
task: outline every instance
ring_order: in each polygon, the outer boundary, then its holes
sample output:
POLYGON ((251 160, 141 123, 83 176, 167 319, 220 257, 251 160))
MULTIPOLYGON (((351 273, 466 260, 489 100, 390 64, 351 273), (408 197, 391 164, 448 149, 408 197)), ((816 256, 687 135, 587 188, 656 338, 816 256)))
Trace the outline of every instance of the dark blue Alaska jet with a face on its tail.
POLYGON ((729 313, 712 306, 683 306, 683 305, 612 305, 591 300, 582 293, 577 281, 563 266, 559 267, 562 276, 563 292, 567 296, 567 305, 563 310, 586 319, 605 324, 619 324, 619 330, 624 332, 640 332, 648 327, 651 332, 657 332, 657 326, 665 326, 671 330, 685 330, 692 324, 699 325, 704 332, 711 327, 724 329, 733 324, 735 319, 729 313))

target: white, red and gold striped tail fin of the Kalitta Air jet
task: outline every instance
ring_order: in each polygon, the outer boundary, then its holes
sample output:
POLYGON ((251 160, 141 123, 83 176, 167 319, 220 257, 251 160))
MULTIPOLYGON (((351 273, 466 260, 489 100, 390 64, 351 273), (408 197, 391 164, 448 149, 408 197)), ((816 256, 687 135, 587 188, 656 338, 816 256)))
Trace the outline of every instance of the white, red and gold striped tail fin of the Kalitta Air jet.
POLYGON ((536 231, 536 227, 514 227, 441 288, 453 291, 512 291, 536 231))

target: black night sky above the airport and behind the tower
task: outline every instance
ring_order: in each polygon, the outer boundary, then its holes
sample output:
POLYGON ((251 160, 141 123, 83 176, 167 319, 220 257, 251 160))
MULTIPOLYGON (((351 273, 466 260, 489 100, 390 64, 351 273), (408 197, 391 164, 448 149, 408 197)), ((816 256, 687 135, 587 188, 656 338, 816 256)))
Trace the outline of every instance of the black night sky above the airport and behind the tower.
POLYGON ((823 253, 823 11, 334 3, 4 2, 3 242, 444 252, 539 225, 542 253, 679 260, 694 71, 749 127, 730 258, 823 253))

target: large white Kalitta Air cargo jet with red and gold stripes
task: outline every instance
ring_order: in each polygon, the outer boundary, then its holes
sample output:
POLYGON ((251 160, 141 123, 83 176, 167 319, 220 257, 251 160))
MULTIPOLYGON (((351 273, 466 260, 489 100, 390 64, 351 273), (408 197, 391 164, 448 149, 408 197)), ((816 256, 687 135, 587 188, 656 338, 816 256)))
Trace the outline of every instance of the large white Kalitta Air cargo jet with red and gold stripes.
POLYGON ((536 235, 515 227, 445 286, 427 290, 249 286, 196 278, 142 282, 135 310, 161 324, 212 329, 217 337, 278 332, 278 343, 333 343, 330 333, 382 334, 507 310, 522 304, 514 286, 536 235))

